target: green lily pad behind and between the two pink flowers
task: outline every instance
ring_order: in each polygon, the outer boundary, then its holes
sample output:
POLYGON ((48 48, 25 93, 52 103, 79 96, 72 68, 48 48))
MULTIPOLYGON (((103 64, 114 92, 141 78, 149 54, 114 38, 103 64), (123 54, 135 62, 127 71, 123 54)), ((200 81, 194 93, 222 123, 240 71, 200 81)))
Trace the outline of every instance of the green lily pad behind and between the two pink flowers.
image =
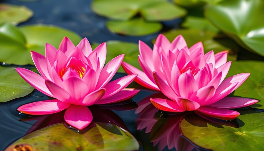
MULTIPOLYGON (((99 44, 92 44, 93 50, 98 45, 99 44)), ((113 58, 115 58, 116 56, 125 54, 125 57, 123 59, 124 62, 129 63, 138 69, 141 69, 138 62, 139 51, 138 51, 137 43, 109 40, 106 42, 106 47, 107 47, 107 55, 106 55, 105 64, 108 63, 113 58)), ((119 67, 117 72, 125 73, 125 71, 121 66, 119 67)))

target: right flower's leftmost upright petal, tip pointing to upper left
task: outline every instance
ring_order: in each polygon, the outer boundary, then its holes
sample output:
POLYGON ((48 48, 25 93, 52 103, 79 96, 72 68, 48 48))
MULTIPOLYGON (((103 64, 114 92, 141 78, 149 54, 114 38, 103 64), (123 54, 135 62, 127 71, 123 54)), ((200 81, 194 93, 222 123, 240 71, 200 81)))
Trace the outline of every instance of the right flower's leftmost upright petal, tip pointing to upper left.
POLYGON ((152 59, 152 53, 153 51, 151 48, 145 44, 143 41, 139 40, 138 42, 138 48, 139 48, 139 53, 143 60, 148 64, 149 68, 153 71, 154 66, 153 66, 153 59, 152 59))

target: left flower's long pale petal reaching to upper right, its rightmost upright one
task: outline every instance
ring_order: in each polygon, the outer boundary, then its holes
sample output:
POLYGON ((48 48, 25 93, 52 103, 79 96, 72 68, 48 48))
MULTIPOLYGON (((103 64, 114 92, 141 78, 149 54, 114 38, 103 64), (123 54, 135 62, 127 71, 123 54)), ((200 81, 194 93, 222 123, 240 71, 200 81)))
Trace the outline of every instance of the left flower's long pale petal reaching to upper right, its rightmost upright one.
POLYGON ((105 65, 105 67, 100 72, 99 80, 97 82, 95 89, 104 87, 111 80, 111 78, 113 78, 114 74, 116 74, 116 71, 118 70, 119 66, 122 63, 123 58, 124 58, 124 54, 119 55, 116 58, 113 58, 105 65))

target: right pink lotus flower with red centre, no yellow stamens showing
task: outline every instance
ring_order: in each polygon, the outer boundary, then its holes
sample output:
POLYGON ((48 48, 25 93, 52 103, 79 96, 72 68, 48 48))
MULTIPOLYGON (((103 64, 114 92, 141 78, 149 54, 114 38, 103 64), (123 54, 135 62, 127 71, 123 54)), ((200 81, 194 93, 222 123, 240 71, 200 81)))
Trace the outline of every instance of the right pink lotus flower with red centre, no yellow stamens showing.
POLYGON ((169 99, 150 99, 158 109, 171 112, 195 111, 218 119, 232 120, 239 113, 229 109, 249 106, 254 99, 226 97, 250 75, 241 73, 225 79, 231 65, 227 51, 204 54, 201 42, 188 49, 179 35, 172 43, 159 35, 153 51, 139 41, 138 56, 143 71, 123 62, 128 74, 138 74, 136 82, 161 91, 169 99), (225 79, 225 80, 224 80, 225 79))

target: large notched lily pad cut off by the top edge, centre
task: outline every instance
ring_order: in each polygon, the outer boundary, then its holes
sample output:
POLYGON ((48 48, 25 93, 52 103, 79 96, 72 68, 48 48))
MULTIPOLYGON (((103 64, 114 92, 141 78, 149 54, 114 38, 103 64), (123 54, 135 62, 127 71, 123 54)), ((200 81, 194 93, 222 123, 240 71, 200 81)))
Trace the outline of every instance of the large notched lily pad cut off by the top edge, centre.
POLYGON ((117 20, 140 14, 148 21, 166 21, 186 14, 185 9, 166 0, 94 0, 91 7, 96 14, 117 20))

